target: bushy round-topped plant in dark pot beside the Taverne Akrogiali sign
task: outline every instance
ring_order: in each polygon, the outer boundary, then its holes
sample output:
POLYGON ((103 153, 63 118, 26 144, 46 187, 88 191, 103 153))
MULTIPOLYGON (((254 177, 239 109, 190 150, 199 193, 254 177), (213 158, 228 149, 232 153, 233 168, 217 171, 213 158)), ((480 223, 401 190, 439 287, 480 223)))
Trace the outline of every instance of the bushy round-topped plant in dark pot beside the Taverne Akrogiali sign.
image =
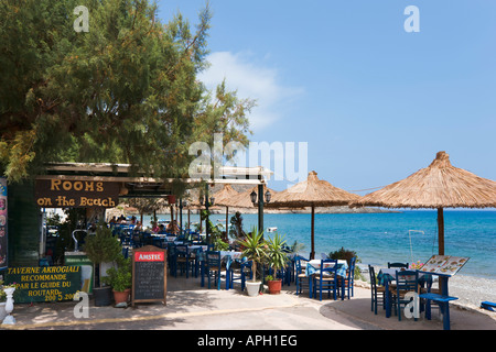
POLYGON ((105 223, 99 223, 96 233, 86 238, 84 251, 95 267, 98 267, 99 275, 95 277, 95 287, 93 288, 95 306, 110 306, 112 297, 111 287, 100 286, 103 277, 101 264, 116 261, 119 254, 122 254, 121 245, 112 237, 111 229, 107 228, 105 223))

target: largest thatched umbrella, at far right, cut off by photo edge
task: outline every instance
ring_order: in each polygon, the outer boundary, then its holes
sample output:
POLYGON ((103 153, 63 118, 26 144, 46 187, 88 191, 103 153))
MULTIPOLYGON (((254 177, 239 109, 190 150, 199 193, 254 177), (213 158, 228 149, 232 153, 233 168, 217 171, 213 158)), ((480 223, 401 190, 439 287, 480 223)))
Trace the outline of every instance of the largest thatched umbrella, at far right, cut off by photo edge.
POLYGON ((444 208, 496 207, 496 182, 454 167, 439 152, 425 168, 368 194, 352 205, 385 208, 438 209, 439 254, 444 255, 444 208))

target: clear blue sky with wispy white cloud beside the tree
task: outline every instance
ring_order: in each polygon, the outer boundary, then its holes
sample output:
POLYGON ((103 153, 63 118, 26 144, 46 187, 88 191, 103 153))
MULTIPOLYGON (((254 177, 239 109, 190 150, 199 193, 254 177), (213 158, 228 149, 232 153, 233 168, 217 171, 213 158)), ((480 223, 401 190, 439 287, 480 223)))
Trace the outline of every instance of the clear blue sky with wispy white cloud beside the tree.
MULTIPOLYGON (((180 11, 192 25, 206 3, 157 2, 164 22, 180 11)), ((496 1, 209 4, 202 77, 257 100, 251 141, 306 142, 308 169, 352 191, 402 179, 439 151, 496 179, 496 1), (418 33, 403 29, 408 6, 419 9, 418 33)))

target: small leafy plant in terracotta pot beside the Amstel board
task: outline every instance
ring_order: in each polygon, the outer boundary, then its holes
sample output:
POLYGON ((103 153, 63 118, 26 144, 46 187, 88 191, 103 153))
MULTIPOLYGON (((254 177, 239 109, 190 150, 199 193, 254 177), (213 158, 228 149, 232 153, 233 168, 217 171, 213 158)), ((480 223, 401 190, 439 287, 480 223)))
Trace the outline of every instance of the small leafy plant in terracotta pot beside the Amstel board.
POLYGON ((127 302, 132 286, 131 258, 125 258, 122 254, 116 260, 117 266, 107 270, 104 283, 112 287, 116 305, 127 302))

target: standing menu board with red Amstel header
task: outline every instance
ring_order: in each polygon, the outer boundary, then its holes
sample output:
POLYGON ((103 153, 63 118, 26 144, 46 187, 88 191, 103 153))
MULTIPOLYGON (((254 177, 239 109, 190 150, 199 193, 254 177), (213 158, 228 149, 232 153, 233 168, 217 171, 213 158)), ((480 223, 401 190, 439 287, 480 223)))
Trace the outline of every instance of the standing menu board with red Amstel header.
POLYGON ((132 253, 132 306, 140 301, 162 301, 166 297, 165 250, 153 245, 134 249, 132 253))

